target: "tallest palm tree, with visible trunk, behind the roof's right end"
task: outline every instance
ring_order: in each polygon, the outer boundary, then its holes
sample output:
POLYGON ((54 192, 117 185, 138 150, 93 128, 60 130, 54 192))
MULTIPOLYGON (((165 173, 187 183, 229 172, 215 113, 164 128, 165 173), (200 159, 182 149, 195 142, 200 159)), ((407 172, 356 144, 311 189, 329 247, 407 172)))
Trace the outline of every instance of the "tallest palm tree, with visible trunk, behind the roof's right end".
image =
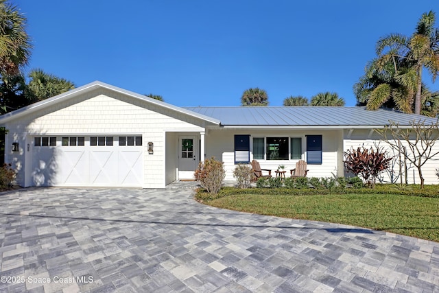
POLYGON ((402 34, 390 34, 378 40, 378 65, 402 59, 405 63, 395 68, 395 78, 405 86, 407 93, 414 89, 414 113, 420 114, 422 102, 423 69, 431 73, 433 82, 439 71, 439 30, 434 28, 436 16, 433 11, 424 13, 416 26, 412 37, 402 34), (385 51, 385 53, 384 53, 385 51))

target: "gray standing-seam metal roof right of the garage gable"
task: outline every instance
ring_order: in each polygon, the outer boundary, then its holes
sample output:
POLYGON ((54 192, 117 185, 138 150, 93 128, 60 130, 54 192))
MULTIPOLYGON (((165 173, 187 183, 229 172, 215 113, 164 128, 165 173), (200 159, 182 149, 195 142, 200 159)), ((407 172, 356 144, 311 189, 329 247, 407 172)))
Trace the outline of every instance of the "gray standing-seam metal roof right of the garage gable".
POLYGON ((274 106, 274 107, 182 107, 221 121, 222 126, 384 126, 395 121, 409 126, 410 121, 435 124, 438 119, 405 114, 394 110, 366 110, 365 107, 274 106))

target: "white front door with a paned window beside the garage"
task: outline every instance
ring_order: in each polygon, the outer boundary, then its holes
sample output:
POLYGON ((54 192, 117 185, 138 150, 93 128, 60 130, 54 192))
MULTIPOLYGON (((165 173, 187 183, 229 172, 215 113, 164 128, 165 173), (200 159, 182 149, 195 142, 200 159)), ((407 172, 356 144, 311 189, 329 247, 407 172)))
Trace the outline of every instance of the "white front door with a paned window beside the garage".
POLYGON ((193 179, 198 166, 195 137, 180 137, 178 179, 193 179))

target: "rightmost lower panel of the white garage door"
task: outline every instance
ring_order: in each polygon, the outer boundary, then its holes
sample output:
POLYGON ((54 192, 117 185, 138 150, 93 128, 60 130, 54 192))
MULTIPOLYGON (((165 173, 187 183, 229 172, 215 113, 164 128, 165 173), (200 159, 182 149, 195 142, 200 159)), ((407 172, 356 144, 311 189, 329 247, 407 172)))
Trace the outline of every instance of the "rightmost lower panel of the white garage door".
POLYGON ((121 150, 119 152, 119 183, 122 186, 142 185, 142 152, 121 150))

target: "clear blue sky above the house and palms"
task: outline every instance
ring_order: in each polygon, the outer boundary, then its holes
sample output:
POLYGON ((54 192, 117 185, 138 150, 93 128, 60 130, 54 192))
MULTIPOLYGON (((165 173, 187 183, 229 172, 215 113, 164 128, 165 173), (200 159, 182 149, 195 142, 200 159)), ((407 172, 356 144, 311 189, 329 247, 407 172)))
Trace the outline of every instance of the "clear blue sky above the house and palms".
MULTIPOLYGON (((437 0, 13 0, 40 68, 100 80, 176 106, 239 106, 250 87, 270 106, 352 87, 381 36, 410 36, 437 0)), ((439 27, 439 20, 436 21, 439 27)), ((427 80, 426 80, 427 82, 427 80)), ((428 80, 431 89, 439 89, 428 80)))

